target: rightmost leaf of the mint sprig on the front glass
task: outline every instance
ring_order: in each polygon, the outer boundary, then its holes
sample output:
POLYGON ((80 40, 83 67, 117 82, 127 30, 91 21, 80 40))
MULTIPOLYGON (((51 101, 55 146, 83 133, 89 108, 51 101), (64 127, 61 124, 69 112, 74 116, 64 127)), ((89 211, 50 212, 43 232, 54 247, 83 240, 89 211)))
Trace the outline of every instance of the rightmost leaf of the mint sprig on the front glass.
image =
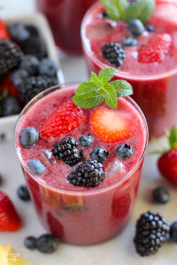
POLYGON ((117 97, 130 96, 133 94, 132 86, 125 80, 114 80, 109 84, 114 87, 117 97))

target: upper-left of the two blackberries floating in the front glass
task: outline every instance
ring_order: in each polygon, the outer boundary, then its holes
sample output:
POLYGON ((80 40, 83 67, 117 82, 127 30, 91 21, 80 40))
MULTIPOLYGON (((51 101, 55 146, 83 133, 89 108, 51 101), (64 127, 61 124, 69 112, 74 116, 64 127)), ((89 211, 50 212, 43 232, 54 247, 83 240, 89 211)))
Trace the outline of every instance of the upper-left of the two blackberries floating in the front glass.
POLYGON ((63 160, 65 164, 74 165, 80 160, 77 146, 78 143, 73 138, 63 138, 53 146, 52 153, 57 159, 63 160))

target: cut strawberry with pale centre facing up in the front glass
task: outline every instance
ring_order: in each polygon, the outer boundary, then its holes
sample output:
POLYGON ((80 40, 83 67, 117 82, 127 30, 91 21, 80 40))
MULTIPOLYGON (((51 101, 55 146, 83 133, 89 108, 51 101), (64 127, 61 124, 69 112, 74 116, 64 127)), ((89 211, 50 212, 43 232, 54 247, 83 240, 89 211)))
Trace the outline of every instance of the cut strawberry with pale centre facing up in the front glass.
POLYGON ((117 142, 128 138, 137 130, 138 119, 125 113, 98 108, 91 115, 91 125, 105 142, 117 142))

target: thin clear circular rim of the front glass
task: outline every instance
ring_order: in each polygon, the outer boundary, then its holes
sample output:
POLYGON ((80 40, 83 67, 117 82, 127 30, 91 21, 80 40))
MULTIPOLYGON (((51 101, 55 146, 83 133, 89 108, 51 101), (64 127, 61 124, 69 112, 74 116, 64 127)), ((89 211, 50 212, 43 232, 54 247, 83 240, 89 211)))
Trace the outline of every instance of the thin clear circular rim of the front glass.
POLYGON ((143 152, 142 152, 142 155, 141 157, 139 158, 139 160, 137 161, 137 163, 134 165, 134 167, 129 171, 127 172, 127 174, 125 174, 124 176, 122 176, 122 178, 119 178, 118 180, 114 181, 113 183, 111 184, 108 184, 106 186, 103 186, 103 187, 100 187, 100 188, 96 188, 96 189, 89 189, 89 190, 85 190, 85 191, 81 191, 81 190, 73 190, 73 189, 66 189, 66 188, 61 188, 61 187, 57 187, 53 184, 50 184, 44 180, 42 180, 42 178, 38 177, 37 175, 35 175, 34 173, 32 173, 26 165, 24 165, 22 159, 20 158, 20 155, 18 153, 18 146, 16 145, 16 139, 17 139, 17 132, 18 132, 18 128, 19 128, 19 124, 20 124, 20 121, 21 121, 21 118, 23 118, 22 116, 24 115, 24 112, 28 111, 28 109, 30 109, 30 107, 35 103, 37 102, 38 100, 40 100, 40 98, 42 98, 43 96, 46 96, 48 95, 49 93, 51 92, 54 92, 55 90, 58 90, 58 89, 66 89, 67 86, 71 87, 73 85, 79 85, 82 81, 75 81, 75 82, 65 82, 63 84, 58 84, 58 85, 55 85, 53 87, 50 87, 42 92, 40 92, 39 94, 37 94, 35 97, 32 98, 32 100, 30 100, 30 102, 27 103, 27 105, 22 109, 22 111, 20 112, 19 114, 19 117, 17 119, 17 122, 16 122, 16 125, 15 125, 15 130, 14 130, 14 145, 15 145, 15 150, 16 150, 16 153, 17 153, 17 157, 20 161, 20 164, 21 166, 23 167, 23 169, 30 175, 32 176, 35 180, 37 180, 40 184, 42 185, 45 185, 45 186, 49 186, 51 187, 52 189, 55 189, 55 190, 58 190, 60 191, 60 193, 62 193, 62 191, 65 191, 67 193, 71 193, 71 194, 80 194, 80 193, 83 193, 83 194, 88 194, 88 193, 98 193, 100 191, 103 191, 103 190, 106 190, 106 189, 109 189, 110 186, 114 186, 115 184, 117 184, 118 182, 120 182, 122 179, 128 177, 137 167, 138 165, 141 163, 142 159, 144 158, 144 155, 145 155, 145 152, 146 152, 146 149, 147 149, 147 145, 148 145, 148 125, 147 125, 147 122, 146 122, 146 119, 145 119, 145 116, 142 112, 142 110, 140 109, 140 107, 137 105, 137 103, 129 96, 126 96, 124 98, 126 98, 126 100, 128 100, 136 109, 137 111, 139 112, 139 114, 141 115, 141 118, 142 118, 142 121, 145 125, 145 131, 146 131, 146 141, 145 141, 145 146, 144 146, 144 149, 143 149, 143 152))

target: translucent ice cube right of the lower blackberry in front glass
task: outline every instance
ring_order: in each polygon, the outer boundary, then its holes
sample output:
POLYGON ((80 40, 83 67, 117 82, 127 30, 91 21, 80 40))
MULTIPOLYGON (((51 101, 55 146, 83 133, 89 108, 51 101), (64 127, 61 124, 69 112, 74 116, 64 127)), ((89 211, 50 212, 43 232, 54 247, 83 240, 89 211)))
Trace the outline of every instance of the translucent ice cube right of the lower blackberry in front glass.
POLYGON ((119 160, 114 160, 106 171, 108 178, 116 177, 117 175, 124 175, 125 165, 119 160))

